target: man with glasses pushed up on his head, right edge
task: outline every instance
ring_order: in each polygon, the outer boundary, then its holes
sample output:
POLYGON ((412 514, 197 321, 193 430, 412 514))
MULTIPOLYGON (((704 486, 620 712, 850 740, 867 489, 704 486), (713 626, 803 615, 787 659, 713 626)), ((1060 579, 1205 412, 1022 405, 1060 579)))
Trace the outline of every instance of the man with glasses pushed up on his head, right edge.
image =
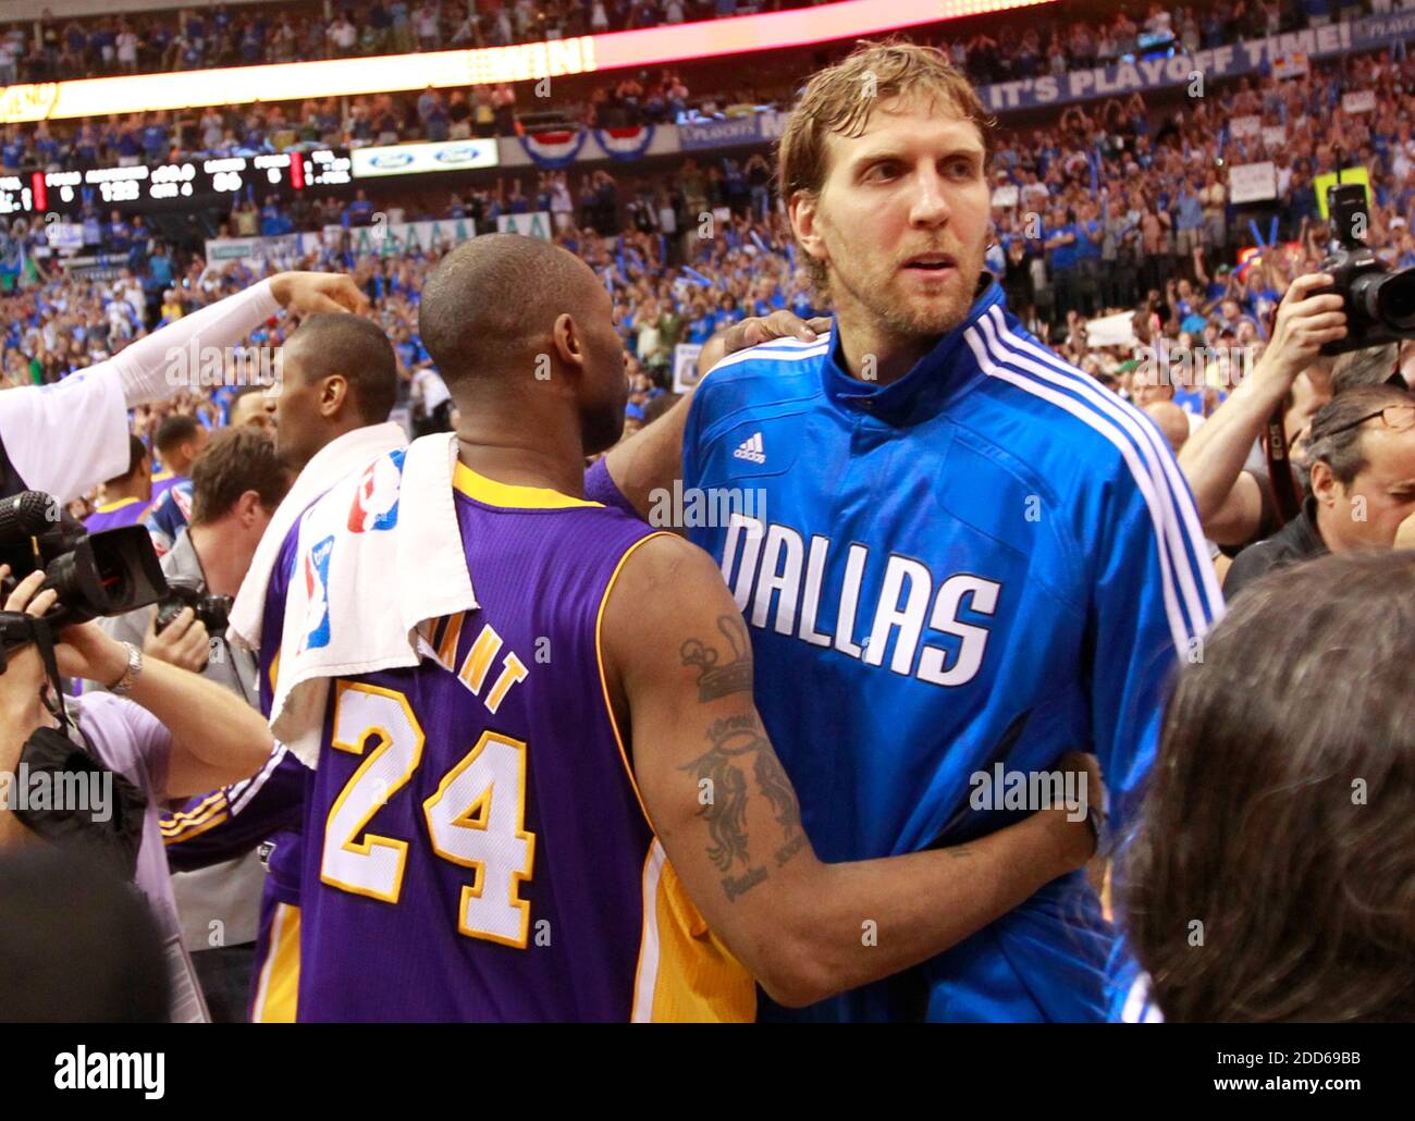
POLYGON ((1339 393, 1312 420, 1302 514, 1244 549, 1224 596, 1288 565, 1415 544, 1415 393, 1371 385, 1339 393))

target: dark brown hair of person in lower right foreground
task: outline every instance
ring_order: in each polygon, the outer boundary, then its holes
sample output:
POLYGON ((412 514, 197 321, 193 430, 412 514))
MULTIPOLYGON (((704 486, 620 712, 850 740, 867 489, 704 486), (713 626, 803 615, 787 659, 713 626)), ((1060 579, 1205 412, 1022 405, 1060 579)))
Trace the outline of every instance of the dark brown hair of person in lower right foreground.
POLYGON ((1415 552, 1255 583, 1186 665, 1118 863, 1169 1022, 1415 1019, 1415 552))

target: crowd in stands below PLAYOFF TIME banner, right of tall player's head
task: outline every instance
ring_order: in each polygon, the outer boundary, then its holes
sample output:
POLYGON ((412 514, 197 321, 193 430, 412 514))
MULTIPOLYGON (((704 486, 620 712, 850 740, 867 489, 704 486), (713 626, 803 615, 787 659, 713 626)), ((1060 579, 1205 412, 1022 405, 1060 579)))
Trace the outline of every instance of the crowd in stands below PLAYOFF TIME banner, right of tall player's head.
POLYGON ((1160 122, 1139 95, 1073 106, 1054 127, 1000 140, 990 266, 1036 321, 1150 303, 1186 331, 1238 335, 1247 320, 1261 335, 1283 289, 1274 270, 1326 255, 1320 176, 1365 168, 1371 243, 1397 268, 1415 265, 1412 88, 1415 59, 1381 52, 1285 81, 1244 78, 1160 122), (1374 109, 1343 109, 1353 91, 1373 92, 1374 109), (1235 136, 1235 117, 1259 130, 1235 136), (1269 160, 1276 197, 1235 204, 1230 168, 1269 160), (1266 246, 1240 263, 1254 246, 1249 219, 1266 246))

